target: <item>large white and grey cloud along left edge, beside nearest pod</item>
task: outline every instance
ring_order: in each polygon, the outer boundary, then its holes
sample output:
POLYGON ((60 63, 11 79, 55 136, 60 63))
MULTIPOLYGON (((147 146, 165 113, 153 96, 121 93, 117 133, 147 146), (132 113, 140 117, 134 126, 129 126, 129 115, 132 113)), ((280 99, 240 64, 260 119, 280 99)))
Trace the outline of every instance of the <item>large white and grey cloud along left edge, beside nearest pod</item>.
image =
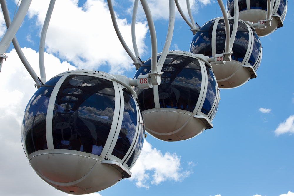
MULTIPOLYGON (((30 48, 23 48, 23 52, 39 75, 38 53, 30 48)), ((65 195, 41 180, 29 166, 21 145, 21 122, 24 109, 37 88, 16 51, 6 55, 8 58, 3 62, 0 73, 0 167, 5 168, 0 175, 1 195, 65 195)), ((61 63, 47 53, 44 58, 48 78, 67 71, 67 63, 61 63)), ((74 67, 69 65, 69 68, 74 67)))

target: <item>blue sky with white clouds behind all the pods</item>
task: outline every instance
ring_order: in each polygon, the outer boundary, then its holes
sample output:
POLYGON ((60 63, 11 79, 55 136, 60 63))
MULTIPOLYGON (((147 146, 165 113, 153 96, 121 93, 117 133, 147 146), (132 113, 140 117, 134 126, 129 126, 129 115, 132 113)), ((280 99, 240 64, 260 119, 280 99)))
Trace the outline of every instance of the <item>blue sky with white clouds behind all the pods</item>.
MULTIPOLYGON (((7 1, 11 19, 16 3, 7 1)), ((148 3, 161 52, 168 26, 168 2, 148 3)), ((186 10, 185 1, 180 3, 186 10)), ((39 38, 48 5, 48 0, 33 0, 16 34, 38 75, 39 38)), ((190 1, 190 5, 200 26, 222 16, 217 1, 190 1)), ((131 7, 132 1, 114 3, 120 30, 130 48, 131 7)), ((163 142, 148 135, 131 170, 132 177, 91 195, 293 196, 293 8, 291 0, 284 26, 260 38, 263 55, 257 78, 238 88, 220 90, 213 129, 180 142, 163 142)), ((146 60, 151 57, 151 45, 142 11, 137 21, 138 48, 141 59, 146 60)), ((4 27, 1 14, 1 37, 4 27)), ((188 51, 192 38, 189 26, 176 10, 170 49, 188 51)), ((29 166, 20 131, 24 109, 36 88, 12 44, 6 55, 0 73, 0 195, 67 195, 43 182, 29 166)), ((56 1, 44 59, 47 80, 76 68, 128 77, 136 72, 116 37, 107 4, 100 0, 56 1)))

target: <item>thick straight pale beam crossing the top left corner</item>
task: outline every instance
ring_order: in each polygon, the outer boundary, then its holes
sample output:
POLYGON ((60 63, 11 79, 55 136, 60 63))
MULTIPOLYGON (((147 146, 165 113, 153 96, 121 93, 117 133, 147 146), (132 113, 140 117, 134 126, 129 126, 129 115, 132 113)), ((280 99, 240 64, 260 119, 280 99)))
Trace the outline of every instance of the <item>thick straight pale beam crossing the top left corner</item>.
POLYGON ((11 22, 9 28, 7 29, 6 33, 4 34, 0 42, 0 54, 5 53, 7 47, 9 46, 10 42, 14 38, 17 30, 19 29, 22 21, 24 20, 24 17, 26 16, 26 13, 29 10, 31 1, 32 0, 21 1, 21 4, 19 5, 19 9, 13 21, 11 22))

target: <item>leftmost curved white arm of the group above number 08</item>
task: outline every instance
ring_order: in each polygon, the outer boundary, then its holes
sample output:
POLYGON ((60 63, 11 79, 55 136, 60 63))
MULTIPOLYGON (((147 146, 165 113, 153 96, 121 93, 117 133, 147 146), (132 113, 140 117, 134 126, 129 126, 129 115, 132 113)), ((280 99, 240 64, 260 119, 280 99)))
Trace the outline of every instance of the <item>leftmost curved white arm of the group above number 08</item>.
POLYGON ((111 0, 107 0, 107 4, 108 4, 110 16, 111 16, 111 20, 112 20, 112 23, 113 23, 113 27, 115 29, 115 32, 116 32, 116 35, 118 36, 119 41, 123 45, 123 48, 126 50, 126 52, 128 53, 128 55, 134 61, 134 63, 139 63, 139 61, 137 60, 136 56, 133 55, 133 53, 131 52, 130 48, 126 45, 126 42, 123 40, 123 37, 121 36, 121 32, 119 31, 118 25, 117 25, 117 22, 116 22, 115 13, 114 13, 114 10, 113 10, 113 6, 112 6, 111 0))

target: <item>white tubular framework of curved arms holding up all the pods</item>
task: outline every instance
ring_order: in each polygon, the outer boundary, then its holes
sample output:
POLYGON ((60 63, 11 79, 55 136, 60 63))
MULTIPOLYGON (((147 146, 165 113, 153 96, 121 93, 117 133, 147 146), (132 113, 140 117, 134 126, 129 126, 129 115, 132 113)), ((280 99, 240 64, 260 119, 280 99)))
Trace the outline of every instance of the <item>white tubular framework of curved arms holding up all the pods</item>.
MULTIPOLYGON (((112 1, 107 0, 111 18, 113 21, 113 26, 116 30, 116 34, 121 41, 123 47, 125 48, 126 52, 128 55, 132 58, 133 64, 135 65, 136 69, 138 69, 141 64, 143 63, 140 59, 139 52, 138 52, 138 47, 136 44, 136 35, 135 35, 135 24, 136 24, 136 13, 137 13, 137 8, 138 8, 138 0, 134 1, 134 8, 133 8, 133 16, 132 16, 132 26, 131 26, 131 33, 132 33, 132 42, 133 42, 133 48, 135 51, 135 55, 131 52, 131 50, 128 48, 126 43, 124 42, 121 33, 118 29, 117 23, 116 23, 116 18, 115 18, 115 13, 113 10, 112 6, 112 1)), ((149 85, 147 88, 152 88, 153 85, 159 85, 160 84, 160 76, 163 74, 161 72, 161 68, 163 66, 164 60, 166 58, 166 53, 169 50, 170 44, 171 44, 171 39, 173 36, 173 29, 174 29, 174 20, 175 20, 175 12, 174 12, 174 4, 176 4, 178 11, 180 12, 181 16, 183 19, 186 21, 186 23, 191 27, 191 31, 193 34, 196 33, 196 31, 199 29, 199 26, 195 24, 190 8, 190 3, 189 0, 186 0, 187 4, 187 9, 188 9, 188 14, 190 17, 190 21, 186 18, 184 15, 183 11, 181 10, 181 7, 178 3, 178 0, 169 0, 169 25, 168 25, 168 31, 167 31, 167 37, 166 41, 164 44, 164 48, 161 54, 160 59, 157 61, 157 40, 156 40, 156 31, 155 31, 155 26, 153 22, 153 18, 151 15, 151 11, 149 9, 148 3, 146 0, 140 0, 143 10, 146 15, 146 19, 148 22, 148 27, 150 31, 150 37, 151 37, 151 73, 148 73, 148 75, 144 76, 148 78, 149 85)), ((50 17, 54 8, 55 0, 51 0, 49 4, 49 8, 46 14, 46 18, 44 21, 44 26, 42 28, 42 33, 41 33, 41 38, 40 38, 40 45, 39 45, 39 66, 40 66, 40 75, 41 79, 37 76, 37 74, 34 72, 34 70, 31 68, 29 62, 26 60, 24 54, 21 52, 21 48, 16 40, 15 34, 17 30, 19 29, 21 22, 23 21, 24 17, 26 16, 26 13, 29 9, 29 6, 31 4, 31 0, 23 0, 21 1, 21 4, 19 6, 19 9, 16 13, 16 16, 14 17, 14 20, 10 22, 9 14, 8 14, 8 9, 6 5, 5 0, 0 0, 1 8, 3 10, 4 14, 4 19, 7 25, 7 31, 4 34, 2 40, 0 41, 0 71, 1 67, 3 64, 3 60, 7 58, 5 56, 5 50, 9 46, 10 42, 14 44, 14 48, 16 49, 21 61, 23 62, 24 66, 26 67, 27 71, 30 73, 31 77, 34 79, 36 82, 37 87, 42 86, 46 82, 46 73, 45 73, 45 68, 44 68, 44 45, 45 45, 45 38, 46 38, 46 32, 49 26, 49 21, 50 17)), ((229 22, 228 22, 228 15, 225 10, 225 6, 223 5, 222 0, 218 0, 218 4, 220 6, 220 9, 223 14, 223 18, 225 21, 225 31, 226 31, 226 41, 225 41, 225 50, 223 54, 216 54, 215 57, 212 58, 205 58, 208 62, 215 62, 217 64, 223 64, 225 61, 231 61, 231 54, 233 53, 232 47, 235 39, 235 34, 237 31, 237 26, 238 26, 238 1, 234 1, 234 6, 235 6, 235 16, 234 16, 234 26, 233 26, 233 31, 232 35, 230 35, 230 28, 229 28, 229 22), (217 61, 216 57, 223 57, 224 59, 222 61, 217 61)), ((270 21, 272 19, 272 12, 273 9, 276 9, 276 7, 273 7, 274 1, 267 0, 268 8, 267 9, 267 14, 266 14, 266 19, 265 24, 267 26, 270 26, 270 21)), ((254 26, 255 24, 253 24, 254 26)), ((265 25, 265 27, 266 27, 265 25)), ((218 58, 219 59, 219 58, 218 58)), ((128 83, 130 86, 137 86, 138 81, 134 80, 128 80, 128 83)))

